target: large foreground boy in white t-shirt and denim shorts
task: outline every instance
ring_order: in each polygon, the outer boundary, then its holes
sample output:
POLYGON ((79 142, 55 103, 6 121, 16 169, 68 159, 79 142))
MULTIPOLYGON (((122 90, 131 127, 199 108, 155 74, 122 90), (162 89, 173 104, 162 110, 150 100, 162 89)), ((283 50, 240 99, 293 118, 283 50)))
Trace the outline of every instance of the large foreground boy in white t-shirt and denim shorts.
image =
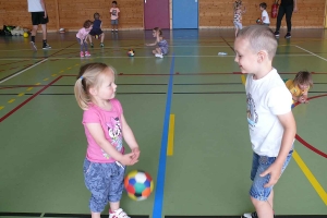
POLYGON ((247 123, 253 149, 250 196, 256 209, 243 218, 274 217, 272 186, 293 153, 296 125, 290 108, 292 96, 271 65, 277 45, 265 25, 241 29, 234 41, 235 62, 247 74, 247 123))

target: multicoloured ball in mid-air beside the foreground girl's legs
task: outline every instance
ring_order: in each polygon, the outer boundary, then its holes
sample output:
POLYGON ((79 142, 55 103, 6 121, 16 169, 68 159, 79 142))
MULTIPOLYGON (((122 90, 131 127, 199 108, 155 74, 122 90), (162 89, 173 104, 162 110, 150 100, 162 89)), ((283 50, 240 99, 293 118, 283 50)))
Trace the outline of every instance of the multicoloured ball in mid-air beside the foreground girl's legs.
POLYGON ((146 199, 154 190, 153 178, 142 170, 133 170, 126 174, 124 186, 128 195, 135 201, 146 199))

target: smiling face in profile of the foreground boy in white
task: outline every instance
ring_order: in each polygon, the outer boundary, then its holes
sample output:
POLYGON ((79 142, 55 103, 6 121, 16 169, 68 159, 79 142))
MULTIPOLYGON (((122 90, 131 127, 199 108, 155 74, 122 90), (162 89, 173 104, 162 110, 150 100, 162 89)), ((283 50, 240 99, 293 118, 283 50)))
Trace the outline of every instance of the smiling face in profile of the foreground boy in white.
POLYGON ((258 55, 251 49, 250 43, 244 38, 237 38, 234 43, 235 59, 242 73, 256 74, 258 71, 258 55))

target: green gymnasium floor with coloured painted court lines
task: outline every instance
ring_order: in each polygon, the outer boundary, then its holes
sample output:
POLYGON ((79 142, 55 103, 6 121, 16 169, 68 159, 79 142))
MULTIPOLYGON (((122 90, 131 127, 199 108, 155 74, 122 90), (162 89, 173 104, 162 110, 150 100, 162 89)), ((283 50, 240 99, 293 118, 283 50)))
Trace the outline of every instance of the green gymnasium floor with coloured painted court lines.
MULTIPOLYGON (((299 135, 275 186, 277 217, 327 217, 326 33, 294 29, 291 39, 279 39, 274 66, 281 77, 307 70, 315 85, 310 104, 293 109, 299 135)), ((80 58, 74 33, 49 34, 52 49, 37 52, 27 38, 0 38, 0 216, 89 216, 83 111, 73 85, 78 68, 95 61, 119 72, 117 98, 141 146, 140 162, 128 171, 145 170, 155 182, 146 201, 123 194, 131 217, 222 218, 252 211, 252 150, 233 31, 166 31, 170 52, 164 59, 144 46, 154 40, 152 32, 106 34, 105 48, 94 40, 90 58, 80 58), (130 48, 134 58, 126 56, 130 48)))

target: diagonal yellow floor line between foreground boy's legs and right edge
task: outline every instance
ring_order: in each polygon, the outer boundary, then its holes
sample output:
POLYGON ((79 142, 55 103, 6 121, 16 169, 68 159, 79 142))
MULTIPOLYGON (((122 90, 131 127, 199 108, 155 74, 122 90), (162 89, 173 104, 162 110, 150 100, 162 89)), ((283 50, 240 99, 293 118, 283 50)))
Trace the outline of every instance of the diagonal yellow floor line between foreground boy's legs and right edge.
POLYGON ((312 186, 315 189, 315 191, 318 193, 318 195, 322 197, 325 205, 327 205, 327 193, 324 190, 324 187, 319 184, 315 175, 310 171, 310 169, 306 167, 300 155, 296 153, 296 150, 293 152, 293 158, 295 162, 299 165, 300 169, 305 174, 306 179, 310 181, 312 186))

